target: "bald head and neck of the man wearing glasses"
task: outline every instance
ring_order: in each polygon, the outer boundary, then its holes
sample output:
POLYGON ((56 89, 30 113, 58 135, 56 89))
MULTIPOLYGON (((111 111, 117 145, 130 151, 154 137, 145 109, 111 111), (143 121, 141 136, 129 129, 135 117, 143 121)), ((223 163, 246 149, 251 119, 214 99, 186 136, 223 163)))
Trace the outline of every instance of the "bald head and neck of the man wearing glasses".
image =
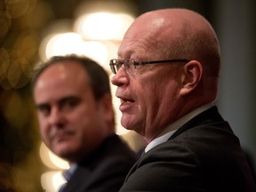
POLYGON ((211 24, 196 12, 164 9, 142 14, 125 33, 117 61, 111 82, 122 101, 121 124, 148 141, 216 99, 219 43, 211 24), (122 66, 129 59, 129 65, 122 66))

